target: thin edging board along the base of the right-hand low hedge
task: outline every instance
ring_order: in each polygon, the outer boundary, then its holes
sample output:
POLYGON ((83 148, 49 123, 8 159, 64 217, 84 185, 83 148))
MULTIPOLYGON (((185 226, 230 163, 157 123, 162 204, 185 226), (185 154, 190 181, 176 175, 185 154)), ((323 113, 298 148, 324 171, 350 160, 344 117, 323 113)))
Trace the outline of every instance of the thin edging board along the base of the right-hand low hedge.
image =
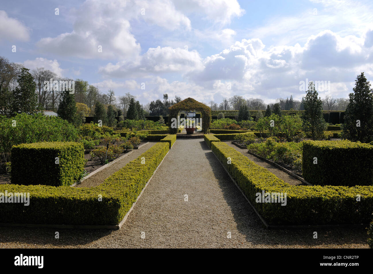
POLYGON ((262 221, 263 225, 266 229, 279 229, 279 230, 285 230, 285 229, 329 229, 329 228, 366 228, 369 224, 318 224, 318 225, 305 225, 305 224, 298 224, 298 225, 285 225, 285 226, 272 226, 267 223, 266 220, 260 215, 260 213, 257 211, 257 209, 254 207, 254 205, 250 202, 250 200, 247 198, 245 193, 242 191, 242 189, 239 187, 239 185, 236 183, 235 179, 231 176, 231 174, 228 172, 228 170, 225 168, 222 162, 220 162, 219 158, 215 155, 215 153, 211 150, 211 152, 216 157, 217 161, 222 165, 225 172, 228 174, 228 176, 231 178, 232 182, 236 185, 236 187, 241 191, 242 195, 245 197, 245 199, 249 202, 255 213, 258 215, 260 220, 262 221))

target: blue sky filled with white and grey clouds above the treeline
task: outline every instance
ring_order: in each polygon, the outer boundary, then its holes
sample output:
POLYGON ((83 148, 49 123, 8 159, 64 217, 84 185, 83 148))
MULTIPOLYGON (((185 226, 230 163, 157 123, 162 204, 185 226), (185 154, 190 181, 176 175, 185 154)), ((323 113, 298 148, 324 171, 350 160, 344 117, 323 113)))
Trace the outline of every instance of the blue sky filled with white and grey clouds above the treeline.
POLYGON ((0 56, 141 104, 300 100, 307 81, 347 98, 373 81, 373 1, 3 1, 0 56))

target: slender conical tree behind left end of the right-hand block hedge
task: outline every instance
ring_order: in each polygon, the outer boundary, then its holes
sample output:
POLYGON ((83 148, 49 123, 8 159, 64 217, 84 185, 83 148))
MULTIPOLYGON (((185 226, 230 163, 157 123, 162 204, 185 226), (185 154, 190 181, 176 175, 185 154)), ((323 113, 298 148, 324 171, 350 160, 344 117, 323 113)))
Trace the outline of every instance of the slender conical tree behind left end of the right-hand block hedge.
POLYGON ((315 89, 315 84, 308 83, 307 94, 304 99, 303 131, 312 140, 322 139, 326 122, 323 117, 323 102, 315 89))

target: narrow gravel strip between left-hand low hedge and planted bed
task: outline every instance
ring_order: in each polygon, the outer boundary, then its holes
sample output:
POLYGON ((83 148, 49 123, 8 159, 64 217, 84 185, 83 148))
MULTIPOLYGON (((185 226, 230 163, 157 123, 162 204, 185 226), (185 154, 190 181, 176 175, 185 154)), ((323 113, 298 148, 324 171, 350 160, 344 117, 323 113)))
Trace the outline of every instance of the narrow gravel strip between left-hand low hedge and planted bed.
POLYGON ((142 153, 147 151, 149 148, 153 147, 156 142, 149 142, 148 144, 142 146, 139 149, 133 149, 133 152, 126 157, 124 157, 122 160, 117 161, 115 164, 112 164, 109 167, 106 167, 105 169, 97 172, 93 176, 89 177, 88 179, 85 179, 82 183, 79 185, 76 185, 76 188, 87 188, 91 186, 97 186, 104 182, 104 180, 115 173, 116 171, 120 170, 122 167, 124 167, 129 162, 135 160, 137 157, 139 157, 142 153))

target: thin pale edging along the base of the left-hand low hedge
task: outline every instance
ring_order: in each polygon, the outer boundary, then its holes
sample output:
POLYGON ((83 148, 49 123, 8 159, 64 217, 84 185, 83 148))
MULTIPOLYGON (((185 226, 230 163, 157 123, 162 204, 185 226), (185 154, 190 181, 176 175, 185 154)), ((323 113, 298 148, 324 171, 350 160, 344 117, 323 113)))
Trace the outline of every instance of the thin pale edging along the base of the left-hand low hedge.
MULTIPOLYGON (((168 151, 170 152, 170 151, 168 151)), ((156 170, 154 170, 153 174, 151 175, 148 182, 145 184, 144 188, 141 190, 140 194, 137 196, 136 201, 132 204, 132 207, 128 210, 122 221, 120 221, 119 224, 115 225, 75 225, 75 224, 10 224, 10 223, 0 223, 0 226, 8 226, 8 227, 29 227, 29 228, 57 228, 57 229, 113 229, 113 230, 119 230, 120 227, 125 223, 127 220, 128 215, 131 213, 132 209, 135 207, 138 199, 140 199, 142 193, 144 193, 145 188, 149 185, 150 180, 153 178, 154 174, 160 167, 160 165, 163 163, 164 158, 166 158, 168 152, 166 155, 164 155, 162 161, 157 166, 156 170)), ((124 156, 124 155, 123 155, 124 156)))

